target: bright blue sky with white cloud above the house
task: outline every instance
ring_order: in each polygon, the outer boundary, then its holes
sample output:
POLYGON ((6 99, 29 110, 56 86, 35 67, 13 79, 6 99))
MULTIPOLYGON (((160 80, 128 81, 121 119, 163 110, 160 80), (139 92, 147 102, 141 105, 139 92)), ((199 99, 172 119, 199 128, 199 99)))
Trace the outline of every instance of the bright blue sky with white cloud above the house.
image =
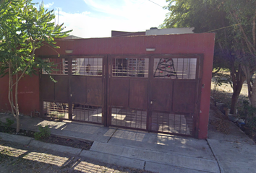
POLYGON ((73 30, 70 35, 85 38, 111 37, 111 30, 149 30, 161 25, 168 13, 161 8, 166 0, 44 0, 43 4, 54 9, 56 23, 59 9, 59 24, 73 30))

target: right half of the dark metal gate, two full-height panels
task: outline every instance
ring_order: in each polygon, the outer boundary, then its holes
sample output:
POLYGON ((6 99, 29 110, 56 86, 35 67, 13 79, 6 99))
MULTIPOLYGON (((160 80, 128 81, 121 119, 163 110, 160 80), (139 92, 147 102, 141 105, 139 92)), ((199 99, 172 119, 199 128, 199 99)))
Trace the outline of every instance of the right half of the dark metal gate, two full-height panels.
POLYGON ((110 56, 108 125, 196 136, 200 55, 110 56))

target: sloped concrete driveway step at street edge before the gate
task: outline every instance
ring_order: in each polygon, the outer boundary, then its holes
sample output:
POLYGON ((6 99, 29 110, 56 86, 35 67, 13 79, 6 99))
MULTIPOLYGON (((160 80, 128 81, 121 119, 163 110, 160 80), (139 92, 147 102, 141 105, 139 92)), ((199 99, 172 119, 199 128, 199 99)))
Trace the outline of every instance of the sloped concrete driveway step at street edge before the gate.
POLYGON ((121 156, 129 159, 137 159, 146 161, 146 163, 153 162, 155 164, 167 165, 168 167, 191 169, 191 171, 219 172, 218 163, 214 159, 182 156, 176 153, 164 153, 142 148, 119 146, 112 143, 101 143, 97 141, 93 143, 90 151, 121 156))

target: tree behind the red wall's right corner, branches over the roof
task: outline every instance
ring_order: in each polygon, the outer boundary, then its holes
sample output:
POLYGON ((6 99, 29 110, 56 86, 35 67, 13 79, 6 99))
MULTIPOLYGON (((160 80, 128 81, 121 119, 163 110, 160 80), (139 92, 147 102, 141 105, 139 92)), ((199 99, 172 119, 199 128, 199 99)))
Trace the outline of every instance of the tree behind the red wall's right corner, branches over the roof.
POLYGON ((170 12, 161 27, 195 27, 196 33, 216 32, 213 66, 218 69, 229 68, 233 87, 230 112, 235 114, 246 76, 240 63, 241 58, 236 56, 237 52, 234 49, 234 37, 237 35, 233 32, 233 25, 236 25, 228 17, 228 11, 223 6, 226 1, 168 0, 168 2, 165 8, 170 12))

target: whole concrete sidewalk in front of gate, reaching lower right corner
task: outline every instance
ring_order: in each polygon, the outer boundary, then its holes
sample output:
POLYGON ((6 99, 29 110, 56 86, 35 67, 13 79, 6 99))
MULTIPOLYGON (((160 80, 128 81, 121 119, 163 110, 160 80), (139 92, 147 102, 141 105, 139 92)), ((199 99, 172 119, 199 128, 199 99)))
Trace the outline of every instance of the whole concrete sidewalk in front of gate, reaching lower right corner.
MULTIPOLYGON (((0 115, 0 120, 4 121, 6 117, 12 118, 0 115)), ((49 121, 38 117, 23 116, 20 121, 22 129, 36 131, 38 125, 49 125, 51 133, 56 136, 94 141, 93 146, 89 151, 82 151, 42 143, 32 138, 22 141, 20 137, 3 133, 0 133, 0 137, 7 141, 21 141, 24 145, 70 152, 108 164, 152 172, 256 172, 254 143, 234 124, 231 125, 232 132, 236 131, 235 135, 224 136, 209 131, 210 138, 205 141, 88 123, 49 121)))

